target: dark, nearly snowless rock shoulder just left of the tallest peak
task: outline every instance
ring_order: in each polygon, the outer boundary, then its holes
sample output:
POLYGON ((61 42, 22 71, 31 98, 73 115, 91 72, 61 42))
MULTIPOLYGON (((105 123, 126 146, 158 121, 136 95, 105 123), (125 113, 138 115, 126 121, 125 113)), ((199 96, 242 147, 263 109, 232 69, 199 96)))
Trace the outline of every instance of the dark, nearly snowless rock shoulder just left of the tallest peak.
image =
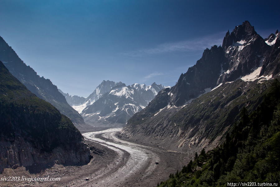
POLYGON ((188 100, 216 86, 221 72, 228 68, 228 61, 221 46, 213 46, 203 52, 202 58, 181 74, 177 84, 170 90, 170 105, 181 106, 188 100))

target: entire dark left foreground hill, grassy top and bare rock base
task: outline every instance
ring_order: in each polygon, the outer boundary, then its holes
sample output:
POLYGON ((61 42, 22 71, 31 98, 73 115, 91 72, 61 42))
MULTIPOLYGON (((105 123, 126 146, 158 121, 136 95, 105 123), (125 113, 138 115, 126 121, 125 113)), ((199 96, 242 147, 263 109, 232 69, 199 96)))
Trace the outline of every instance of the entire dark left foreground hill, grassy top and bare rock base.
POLYGON ((2 62, 0 79, 0 172, 90 161, 89 148, 68 117, 31 93, 2 62))

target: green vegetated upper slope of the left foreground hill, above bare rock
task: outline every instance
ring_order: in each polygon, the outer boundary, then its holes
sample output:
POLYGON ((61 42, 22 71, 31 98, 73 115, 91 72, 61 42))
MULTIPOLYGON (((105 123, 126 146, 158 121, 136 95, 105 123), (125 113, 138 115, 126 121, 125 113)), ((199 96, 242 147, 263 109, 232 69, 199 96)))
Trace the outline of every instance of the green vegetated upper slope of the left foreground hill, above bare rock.
MULTIPOLYGON (((2 128, 5 129, 13 126, 12 120, 19 118, 19 115, 23 115, 22 117, 30 117, 30 115, 33 115, 34 117, 38 116, 38 120, 41 119, 44 121, 44 116, 53 117, 51 124, 57 124, 57 127, 55 127, 57 129, 78 131, 67 117, 61 115, 50 103, 31 93, 19 80, 9 73, 2 62, 0 63, 0 113, 2 128)), ((51 124, 48 125, 51 126, 51 124)), ((40 124, 38 124, 38 126, 40 126, 40 124)), ((27 126, 25 126, 25 128, 26 127, 27 126)), ((10 134, 12 132, 3 130, 2 133, 10 134)))

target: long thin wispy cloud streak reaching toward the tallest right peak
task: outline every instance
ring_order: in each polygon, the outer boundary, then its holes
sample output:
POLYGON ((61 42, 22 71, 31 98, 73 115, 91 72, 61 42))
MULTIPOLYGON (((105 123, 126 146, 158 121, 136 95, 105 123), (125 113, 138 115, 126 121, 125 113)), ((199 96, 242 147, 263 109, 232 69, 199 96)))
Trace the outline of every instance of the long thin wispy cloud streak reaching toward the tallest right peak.
POLYGON ((175 51, 204 50, 207 47, 210 48, 211 46, 214 45, 221 45, 224 35, 225 32, 221 32, 221 33, 203 36, 200 38, 194 38, 186 41, 163 43, 154 48, 134 50, 121 54, 130 57, 140 57, 143 55, 156 55, 156 54, 175 52, 175 51))

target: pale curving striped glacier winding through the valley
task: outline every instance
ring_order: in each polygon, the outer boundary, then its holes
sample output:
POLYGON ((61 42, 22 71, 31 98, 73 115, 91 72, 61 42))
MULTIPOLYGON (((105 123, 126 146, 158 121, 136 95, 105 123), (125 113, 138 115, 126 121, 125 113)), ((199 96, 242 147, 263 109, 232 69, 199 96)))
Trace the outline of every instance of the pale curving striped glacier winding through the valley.
POLYGON ((155 162, 159 162, 160 159, 155 153, 156 151, 153 151, 155 148, 120 140, 116 137, 116 133, 120 132, 121 129, 110 128, 82 134, 85 139, 112 149, 118 154, 118 157, 107 168, 97 172, 90 181, 84 181, 79 185, 131 186, 133 183, 141 183, 156 169, 155 162), (131 180, 132 178, 134 181, 131 180))

